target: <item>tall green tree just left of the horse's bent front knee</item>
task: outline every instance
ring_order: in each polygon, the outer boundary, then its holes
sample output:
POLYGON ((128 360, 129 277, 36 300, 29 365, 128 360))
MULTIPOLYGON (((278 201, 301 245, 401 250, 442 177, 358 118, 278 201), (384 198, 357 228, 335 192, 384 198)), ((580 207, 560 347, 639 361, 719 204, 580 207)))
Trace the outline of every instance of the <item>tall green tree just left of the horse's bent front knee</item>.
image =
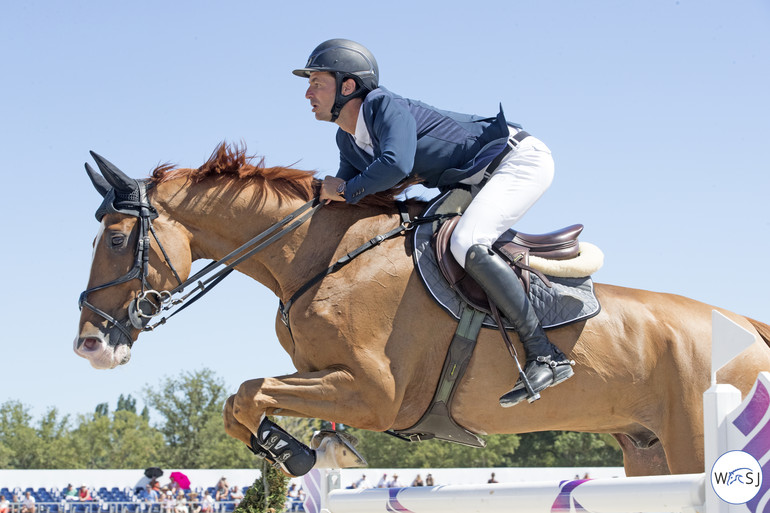
POLYGON ((204 455, 211 456, 208 446, 227 437, 222 421, 227 393, 222 379, 209 369, 183 372, 178 378, 164 379, 156 388, 145 387, 144 392, 145 402, 163 417, 159 429, 166 441, 166 465, 207 468, 210 462, 204 455), (214 419, 220 426, 216 430, 219 436, 211 427, 214 419))

